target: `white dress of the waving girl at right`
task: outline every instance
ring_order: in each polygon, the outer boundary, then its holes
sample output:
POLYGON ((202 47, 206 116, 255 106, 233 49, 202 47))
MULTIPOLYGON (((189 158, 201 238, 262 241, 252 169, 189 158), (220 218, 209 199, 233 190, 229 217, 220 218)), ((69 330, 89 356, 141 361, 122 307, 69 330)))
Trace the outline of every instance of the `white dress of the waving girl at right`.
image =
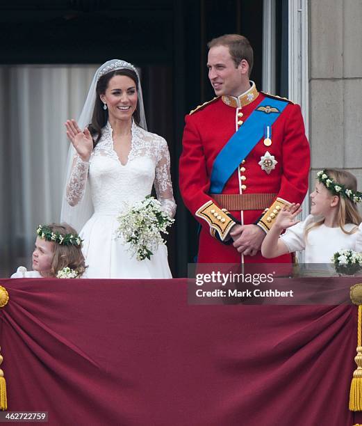
POLYGON ((322 224, 312 228, 305 237, 304 230, 313 221, 315 221, 315 217, 309 214, 305 221, 290 226, 280 236, 290 253, 304 250, 305 263, 331 263, 334 253, 343 248, 362 251, 362 223, 358 227, 352 223, 345 225, 347 231, 356 228, 356 232, 353 234, 345 234, 339 226, 329 228, 322 224))

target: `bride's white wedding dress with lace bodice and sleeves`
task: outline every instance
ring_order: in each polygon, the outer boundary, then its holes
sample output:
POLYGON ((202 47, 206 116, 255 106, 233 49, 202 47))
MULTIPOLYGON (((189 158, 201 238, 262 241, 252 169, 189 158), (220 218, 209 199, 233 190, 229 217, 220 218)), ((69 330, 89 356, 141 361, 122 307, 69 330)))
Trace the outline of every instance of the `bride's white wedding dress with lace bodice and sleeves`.
POLYGON ((132 124, 131 151, 122 164, 113 148, 112 127, 92 151, 89 163, 76 157, 67 187, 69 205, 81 200, 89 183, 94 213, 80 232, 85 264, 84 278, 172 278, 167 261, 167 247, 158 246, 151 260, 136 260, 122 237, 115 237, 117 216, 126 207, 144 200, 156 189, 163 210, 174 216, 176 204, 170 179, 170 154, 161 136, 132 124))

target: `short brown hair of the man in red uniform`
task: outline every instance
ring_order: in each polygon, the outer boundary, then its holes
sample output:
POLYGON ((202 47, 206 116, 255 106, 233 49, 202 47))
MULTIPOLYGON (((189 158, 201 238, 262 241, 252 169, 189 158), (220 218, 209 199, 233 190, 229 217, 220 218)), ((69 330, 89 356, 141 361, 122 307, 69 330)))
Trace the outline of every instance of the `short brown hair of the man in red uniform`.
POLYGON ((238 67, 242 59, 245 59, 249 64, 249 75, 252 73, 254 53, 246 37, 240 36, 239 34, 225 34, 224 36, 213 38, 213 40, 209 41, 207 44, 208 49, 215 46, 229 47, 230 56, 235 66, 238 67))

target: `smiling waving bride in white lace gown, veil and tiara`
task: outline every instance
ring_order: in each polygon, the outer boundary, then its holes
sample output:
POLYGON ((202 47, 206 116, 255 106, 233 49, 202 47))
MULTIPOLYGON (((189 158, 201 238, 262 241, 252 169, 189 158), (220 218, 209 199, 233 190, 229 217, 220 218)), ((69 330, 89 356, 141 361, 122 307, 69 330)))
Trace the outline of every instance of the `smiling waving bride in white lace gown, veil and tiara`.
POLYGON ((84 278, 172 278, 164 244, 151 260, 138 261, 115 237, 117 216, 151 194, 153 184, 163 210, 176 212, 167 142, 147 132, 133 65, 118 59, 101 65, 79 122, 65 126, 72 145, 61 220, 83 227, 84 278))

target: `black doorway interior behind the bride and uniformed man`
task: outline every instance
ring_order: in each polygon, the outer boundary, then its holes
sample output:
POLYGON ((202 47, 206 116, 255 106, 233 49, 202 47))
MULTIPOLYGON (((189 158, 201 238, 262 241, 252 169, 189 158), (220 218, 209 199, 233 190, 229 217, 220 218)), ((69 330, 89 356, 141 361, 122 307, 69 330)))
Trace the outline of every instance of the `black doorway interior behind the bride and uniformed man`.
MULTIPOLYGON (((277 21, 281 40, 281 10, 277 21)), ((242 33, 249 38, 252 79, 261 88, 263 1, 13 0, 1 3, 0 23, 2 64, 98 64, 122 58, 140 68, 149 130, 170 147, 178 205, 168 238, 170 266, 175 277, 186 276, 197 253, 197 223, 178 191, 183 118, 214 96, 206 72, 206 43, 213 37, 242 33)))

